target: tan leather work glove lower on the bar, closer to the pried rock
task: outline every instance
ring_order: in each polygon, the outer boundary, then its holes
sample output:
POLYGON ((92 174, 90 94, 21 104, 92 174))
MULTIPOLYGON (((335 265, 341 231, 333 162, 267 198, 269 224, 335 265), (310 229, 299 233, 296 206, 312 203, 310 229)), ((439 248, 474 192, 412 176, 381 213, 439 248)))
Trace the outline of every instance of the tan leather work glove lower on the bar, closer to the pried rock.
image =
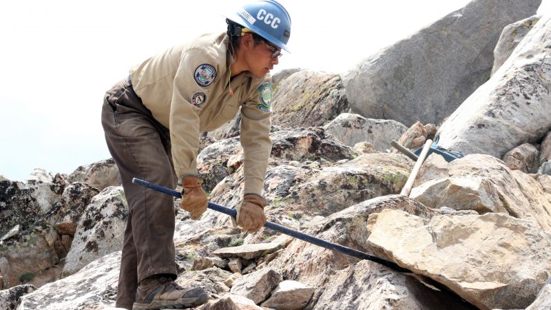
POLYGON ((233 227, 240 226, 249 234, 257 231, 266 223, 264 215, 266 200, 257 194, 245 194, 241 205, 236 207, 237 218, 231 218, 233 227))

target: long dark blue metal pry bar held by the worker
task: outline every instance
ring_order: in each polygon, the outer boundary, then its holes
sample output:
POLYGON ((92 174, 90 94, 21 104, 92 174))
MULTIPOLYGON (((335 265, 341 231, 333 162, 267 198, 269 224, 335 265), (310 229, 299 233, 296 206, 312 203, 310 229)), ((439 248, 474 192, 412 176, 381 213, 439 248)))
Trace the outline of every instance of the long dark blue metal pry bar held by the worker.
MULTIPOLYGON (((149 182, 147 182, 145 180, 141 180, 139 178, 133 178, 132 183, 135 183, 135 184, 138 184, 138 185, 143 185, 145 187, 149 187, 150 189, 155 189, 157 192, 163 192, 165 194, 169 194, 170 196, 174 196, 176 198, 182 198, 182 194, 180 194, 180 192, 178 192, 178 191, 175 191, 174 189, 168 189, 167 187, 156 185, 154 183, 149 183, 149 182)), ((233 218, 235 218, 237 216, 237 211, 236 210, 229 209, 227 207, 222 207, 221 205, 216 205, 216 203, 209 203, 208 207, 209 207, 209 209, 213 209, 214 211, 218 211, 220 213, 227 214, 229 216, 232 216, 233 218)), ((300 231, 290 229, 290 228, 284 227, 282 225, 279 225, 279 224, 276 224, 276 223, 273 223, 273 222, 267 221, 266 223, 264 223, 264 227, 269 228, 269 229, 273 229, 275 231, 279 231, 282 234, 286 234, 286 235, 295 237, 295 238, 300 239, 300 240, 304 240, 304 241, 309 242, 313 245, 318 245, 318 246, 324 247, 326 249, 333 249, 335 251, 340 251, 343 254, 353 256, 355 258, 360 258, 362 260, 371 260, 373 262, 378 262, 379 264, 384 265, 384 266, 389 267, 389 268, 392 268, 392 269, 395 269, 396 271, 411 273, 410 270, 405 269, 403 267, 399 267, 395 262, 384 260, 384 259, 378 258, 376 256, 371 256, 371 255, 366 254, 362 251, 357 251, 357 250, 351 249, 349 247, 344 247, 343 245, 337 245, 336 243, 329 242, 329 241, 326 241, 326 240, 323 240, 323 239, 320 239, 320 238, 316 238, 314 236, 304 234, 300 231)))

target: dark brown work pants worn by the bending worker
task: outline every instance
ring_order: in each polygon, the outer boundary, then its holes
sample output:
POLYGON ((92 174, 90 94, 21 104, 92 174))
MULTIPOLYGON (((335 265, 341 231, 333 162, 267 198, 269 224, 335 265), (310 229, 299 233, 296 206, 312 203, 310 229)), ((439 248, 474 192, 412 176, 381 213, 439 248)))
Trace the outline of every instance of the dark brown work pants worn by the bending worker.
POLYGON ((138 282, 159 273, 176 278, 173 198, 132 183, 132 178, 141 178, 176 187, 170 136, 127 81, 105 93, 101 124, 129 209, 116 307, 132 309, 138 282))

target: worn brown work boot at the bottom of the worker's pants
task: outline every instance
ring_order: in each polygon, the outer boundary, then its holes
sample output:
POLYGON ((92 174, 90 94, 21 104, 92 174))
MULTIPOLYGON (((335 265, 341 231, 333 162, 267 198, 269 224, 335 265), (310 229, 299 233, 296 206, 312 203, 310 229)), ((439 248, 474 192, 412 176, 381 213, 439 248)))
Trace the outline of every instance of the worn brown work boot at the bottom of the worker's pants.
POLYGON ((156 275, 140 282, 132 310, 192 308, 208 299, 200 287, 183 288, 167 276, 156 275))

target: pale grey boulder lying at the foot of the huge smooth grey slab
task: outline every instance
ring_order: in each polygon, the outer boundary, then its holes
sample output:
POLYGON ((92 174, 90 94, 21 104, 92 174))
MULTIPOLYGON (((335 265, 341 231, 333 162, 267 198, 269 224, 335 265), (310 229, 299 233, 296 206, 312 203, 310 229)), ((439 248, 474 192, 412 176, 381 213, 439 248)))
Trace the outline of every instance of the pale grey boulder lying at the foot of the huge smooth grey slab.
POLYGON ((324 125, 324 129, 338 141, 353 147, 356 143, 369 142, 379 152, 391 148, 391 141, 398 140, 408 127, 392 120, 365 118, 358 114, 343 113, 324 125))

